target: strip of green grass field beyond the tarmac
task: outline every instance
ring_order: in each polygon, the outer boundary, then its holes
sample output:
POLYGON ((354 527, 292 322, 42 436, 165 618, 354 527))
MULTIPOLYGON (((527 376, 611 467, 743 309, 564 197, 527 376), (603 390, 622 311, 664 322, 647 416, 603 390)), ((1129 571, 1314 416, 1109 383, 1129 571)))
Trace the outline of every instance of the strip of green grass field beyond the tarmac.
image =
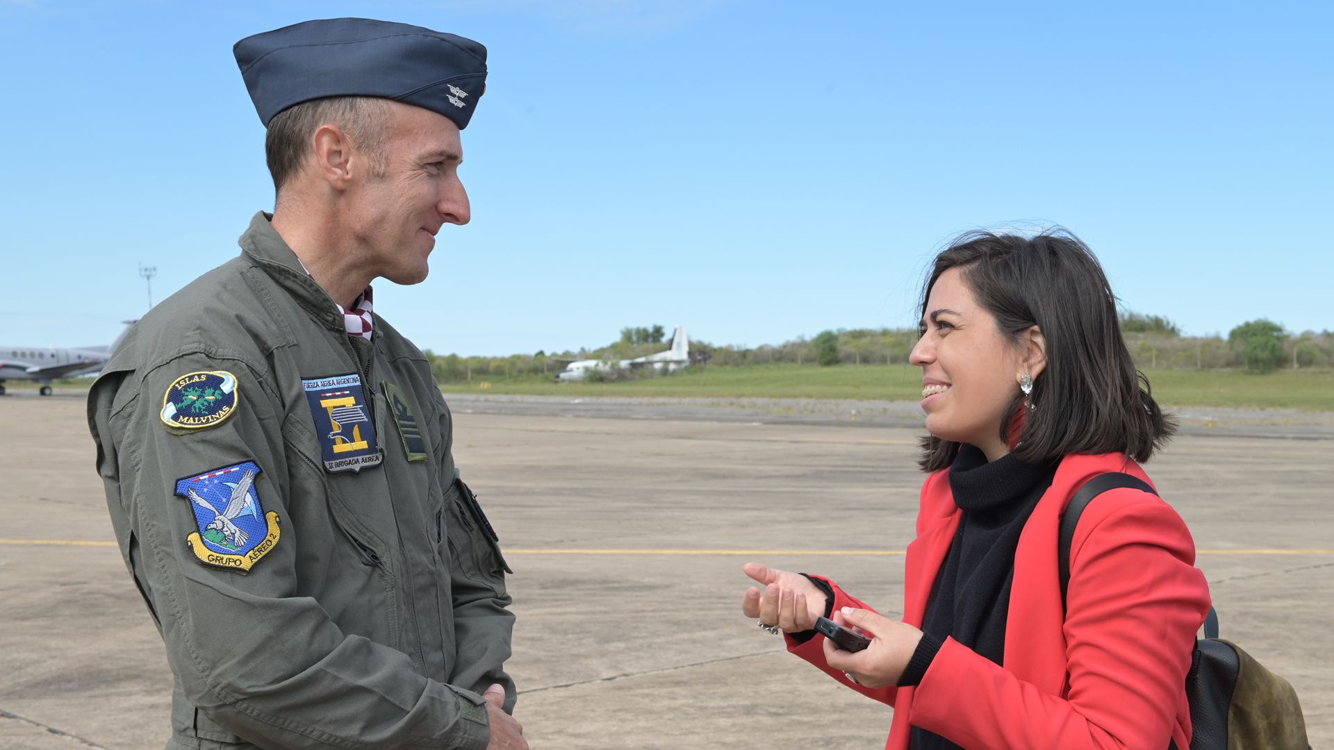
MULTIPOLYGON (((1281 370, 1247 375, 1229 370, 1150 370, 1154 398, 1169 406, 1230 406, 1334 411, 1334 371, 1281 370)), ((556 383, 511 378, 444 383, 446 392, 679 398, 814 398, 918 400, 922 371, 907 366, 756 364, 691 367, 666 378, 622 383, 556 383), (486 386, 483 386, 486 383, 486 386)))

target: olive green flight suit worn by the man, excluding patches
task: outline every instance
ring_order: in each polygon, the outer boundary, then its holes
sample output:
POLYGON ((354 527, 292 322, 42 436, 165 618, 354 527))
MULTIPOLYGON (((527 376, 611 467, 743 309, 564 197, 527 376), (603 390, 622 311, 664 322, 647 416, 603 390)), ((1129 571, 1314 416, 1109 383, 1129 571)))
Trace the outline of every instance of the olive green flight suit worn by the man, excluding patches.
POLYGON ((430 364, 379 316, 370 340, 348 336, 265 214, 240 244, 135 324, 88 399, 116 538, 176 677, 168 747, 482 750, 479 693, 515 701, 508 569, 458 480, 430 364), (236 408, 168 428, 167 388, 200 371, 236 378, 236 408), (383 463, 328 472, 301 380, 350 372, 383 463), (418 460, 384 383, 416 416, 418 460), (241 574, 187 546, 200 527, 176 482, 245 460, 280 536, 241 574))

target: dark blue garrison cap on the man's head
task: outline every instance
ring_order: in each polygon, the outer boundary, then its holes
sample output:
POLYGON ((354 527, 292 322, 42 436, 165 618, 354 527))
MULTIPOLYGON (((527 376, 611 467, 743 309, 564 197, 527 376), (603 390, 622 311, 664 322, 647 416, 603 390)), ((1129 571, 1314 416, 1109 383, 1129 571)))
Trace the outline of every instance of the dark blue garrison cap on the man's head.
POLYGON ((468 127, 486 91, 487 48, 452 33, 371 19, 305 21, 232 47, 259 119, 323 96, 380 96, 468 127))

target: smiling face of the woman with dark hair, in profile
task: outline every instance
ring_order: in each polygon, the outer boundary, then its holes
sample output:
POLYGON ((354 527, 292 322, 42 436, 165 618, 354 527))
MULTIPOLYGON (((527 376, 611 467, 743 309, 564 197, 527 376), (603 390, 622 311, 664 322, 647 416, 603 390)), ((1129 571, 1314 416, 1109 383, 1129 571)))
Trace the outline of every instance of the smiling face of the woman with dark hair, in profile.
POLYGON ((922 368, 926 428, 943 440, 970 443, 988 460, 1010 451, 1000 420, 1019 391, 1019 376, 1037 378, 1046 364, 1038 327, 1011 343, 995 316, 978 304, 962 272, 935 280, 910 362, 922 368))

